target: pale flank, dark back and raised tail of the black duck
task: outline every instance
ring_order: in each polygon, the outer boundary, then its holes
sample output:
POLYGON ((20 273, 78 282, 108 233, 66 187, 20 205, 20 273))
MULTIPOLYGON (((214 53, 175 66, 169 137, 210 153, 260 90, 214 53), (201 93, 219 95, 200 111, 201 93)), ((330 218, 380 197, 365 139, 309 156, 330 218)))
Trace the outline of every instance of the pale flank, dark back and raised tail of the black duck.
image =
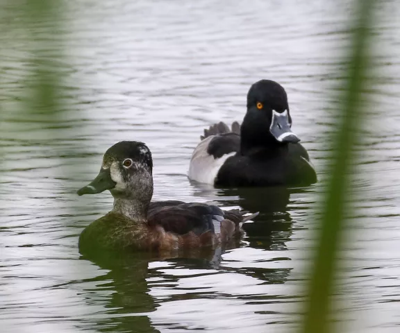
POLYGON ((215 177, 224 162, 240 151, 240 125, 234 122, 231 129, 226 123, 216 123, 204 130, 201 142, 192 153, 189 178, 214 185, 215 177))

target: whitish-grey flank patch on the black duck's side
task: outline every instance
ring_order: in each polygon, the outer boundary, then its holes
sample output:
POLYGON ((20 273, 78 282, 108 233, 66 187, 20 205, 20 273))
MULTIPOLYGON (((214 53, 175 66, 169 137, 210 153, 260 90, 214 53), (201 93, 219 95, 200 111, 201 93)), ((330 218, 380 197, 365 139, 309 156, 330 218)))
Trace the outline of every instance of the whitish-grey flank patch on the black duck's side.
POLYGON ((222 155, 222 157, 214 158, 213 155, 208 155, 208 144, 213 139, 214 135, 206 137, 203 139, 194 149, 192 158, 190 159, 189 174, 188 177, 191 180, 196 180, 197 182, 203 182, 206 184, 214 185, 215 177, 219 169, 221 169, 222 164, 228 159, 236 154, 235 151, 222 155))

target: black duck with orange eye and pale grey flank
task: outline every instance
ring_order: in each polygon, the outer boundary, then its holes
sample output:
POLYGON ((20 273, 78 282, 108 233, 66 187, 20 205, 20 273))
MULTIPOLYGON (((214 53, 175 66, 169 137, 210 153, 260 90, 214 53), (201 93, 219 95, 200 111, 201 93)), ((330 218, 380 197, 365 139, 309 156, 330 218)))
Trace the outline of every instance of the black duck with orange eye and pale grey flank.
POLYGON ((190 159, 188 178, 217 187, 308 186, 317 173, 292 131, 288 96, 273 80, 247 94, 242 125, 219 122, 204 130, 190 159))

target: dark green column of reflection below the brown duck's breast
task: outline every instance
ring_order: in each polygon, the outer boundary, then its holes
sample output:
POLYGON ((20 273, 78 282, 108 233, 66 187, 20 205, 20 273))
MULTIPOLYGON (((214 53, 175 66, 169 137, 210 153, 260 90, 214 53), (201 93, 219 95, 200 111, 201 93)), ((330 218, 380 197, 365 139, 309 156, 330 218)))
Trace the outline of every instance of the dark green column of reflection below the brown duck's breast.
MULTIPOLYGON (((90 259, 100 268, 109 270, 91 279, 96 282, 96 289, 110 291, 104 305, 108 308, 107 316, 97 322, 99 332, 158 332, 146 315, 156 309, 146 281, 149 256, 108 251, 83 255, 81 259, 90 259)), ((92 287, 83 292, 86 292, 86 302, 97 302, 98 296, 92 287)))

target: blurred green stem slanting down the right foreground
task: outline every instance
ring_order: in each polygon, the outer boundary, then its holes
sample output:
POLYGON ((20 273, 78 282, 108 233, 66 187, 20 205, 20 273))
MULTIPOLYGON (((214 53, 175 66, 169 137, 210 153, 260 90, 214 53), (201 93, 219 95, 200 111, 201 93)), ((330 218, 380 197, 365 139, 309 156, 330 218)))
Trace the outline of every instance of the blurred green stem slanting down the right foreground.
POLYGON ((326 333, 330 330, 328 315, 331 294, 338 268, 338 250, 344 230, 344 211, 349 200, 351 164, 354 161, 353 147, 356 135, 365 117, 361 116, 361 93, 365 86, 368 62, 369 28, 372 27, 372 1, 358 0, 347 82, 344 82, 341 122, 337 137, 333 139, 333 164, 328 180, 327 195, 322 214, 322 230, 317 245, 315 266, 310 278, 309 302, 304 316, 302 333, 326 333))

